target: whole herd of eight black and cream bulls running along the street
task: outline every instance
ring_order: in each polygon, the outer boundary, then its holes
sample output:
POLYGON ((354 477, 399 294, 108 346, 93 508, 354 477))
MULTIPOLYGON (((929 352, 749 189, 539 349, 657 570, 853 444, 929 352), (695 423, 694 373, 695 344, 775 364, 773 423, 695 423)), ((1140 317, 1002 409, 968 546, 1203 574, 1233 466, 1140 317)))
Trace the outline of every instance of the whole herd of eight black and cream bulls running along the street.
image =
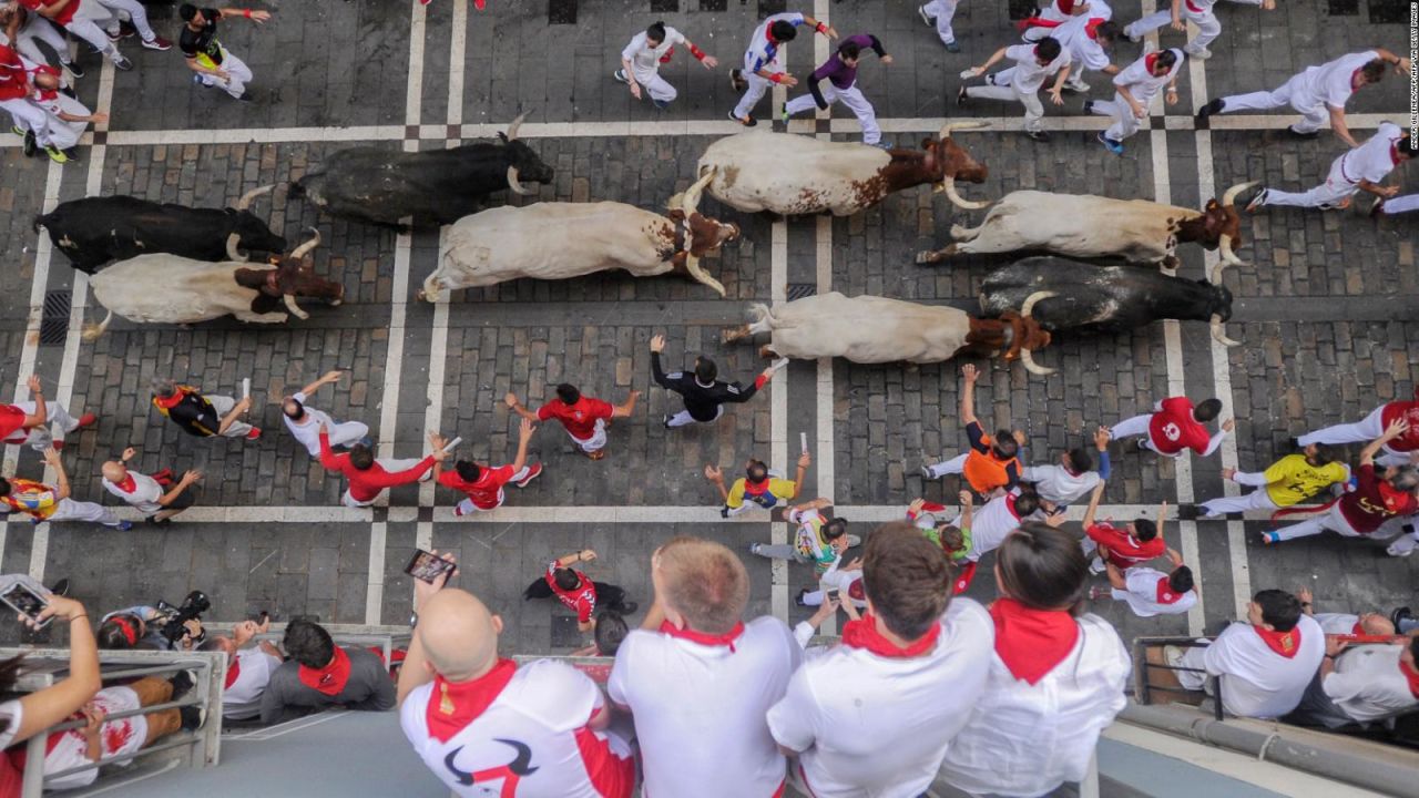
MULTIPOLYGON (((895 192, 931 185, 964 210, 989 210, 978 227, 954 226, 954 240, 920 253, 917 263, 982 253, 1047 254, 992 271, 981 288, 979 315, 834 291, 773 308, 755 304, 751 322, 724 331, 724 341, 768 334, 766 355, 861 364, 1003 355, 1039 375, 1054 369, 1039 365, 1034 352, 1061 332, 1120 332, 1172 318, 1206 321, 1219 342, 1236 345, 1223 329, 1232 294, 1220 284, 1220 270, 1242 264, 1233 206, 1250 185, 1230 187, 1202 210, 1034 190, 1012 192, 995 203, 972 202, 956 186, 983 183, 986 166, 952 132, 983 125, 954 122, 924 139, 920 151, 772 131, 727 136, 705 149, 694 185, 671 197, 666 212, 619 202, 484 210, 497 192, 532 195, 524 183, 553 179, 552 168, 518 139, 521 122, 522 116, 497 141, 453 149, 339 151, 291 185, 288 195, 353 222, 400 229, 410 220, 448 224, 443 260, 417 293, 433 302, 444 291, 609 270, 636 277, 675 273, 724 295, 724 285, 701 258, 738 240, 741 229, 701 213, 705 195, 741 213, 849 216, 895 192), (1220 248, 1210 281, 1166 273, 1176 268, 1175 250, 1183 243, 1220 248)), ((136 324, 192 324, 224 315, 282 324, 291 315, 308 318, 298 300, 338 305, 343 288, 315 274, 319 233, 312 230, 309 240, 282 254, 287 240, 251 213, 251 203, 272 189, 247 192, 236 209, 89 197, 61 203, 34 224, 48 230, 75 268, 94 275, 95 300, 108 314, 87 328, 87 339, 102 335, 115 315, 136 324), (265 257, 253 261, 247 253, 265 257), (153 291, 159 285, 163 290, 153 291)))

